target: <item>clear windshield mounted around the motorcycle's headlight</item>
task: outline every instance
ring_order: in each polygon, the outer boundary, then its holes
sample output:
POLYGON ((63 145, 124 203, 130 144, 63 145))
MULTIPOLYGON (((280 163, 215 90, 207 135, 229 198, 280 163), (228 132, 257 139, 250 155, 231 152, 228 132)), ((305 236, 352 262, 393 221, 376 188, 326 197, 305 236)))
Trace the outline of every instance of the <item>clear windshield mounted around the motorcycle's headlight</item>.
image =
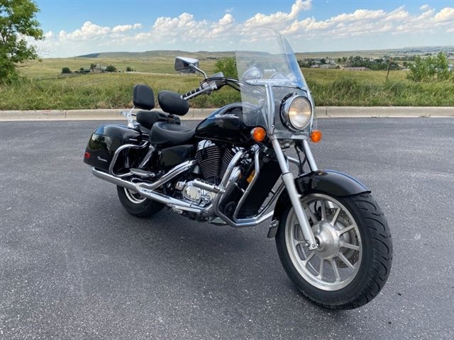
MULTIPOLYGON (((268 129, 275 126, 278 138, 307 135, 308 131, 290 132, 279 118, 280 104, 289 95, 304 94, 310 101, 309 88, 289 42, 270 28, 253 28, 244 33, 236 50, 236 67, 243 103, 260 108, 268 129), (266 91, 266 87, 270 90, 266 91), (272 94, 272 98, 270 97, 272 94)), ((250 106, 243 110, 250 110, 250 106)))

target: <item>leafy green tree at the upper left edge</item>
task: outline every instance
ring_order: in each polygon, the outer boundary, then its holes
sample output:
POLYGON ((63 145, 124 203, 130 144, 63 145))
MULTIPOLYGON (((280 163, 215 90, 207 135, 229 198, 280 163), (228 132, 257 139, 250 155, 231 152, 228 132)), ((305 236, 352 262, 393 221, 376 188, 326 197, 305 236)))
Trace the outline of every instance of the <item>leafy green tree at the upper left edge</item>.
POLYGON ((31 0, 0 0, 0 83, 17 79, 17 64, 38 58, 26 38, 42 40, 35 18, 38 6, 31 0))

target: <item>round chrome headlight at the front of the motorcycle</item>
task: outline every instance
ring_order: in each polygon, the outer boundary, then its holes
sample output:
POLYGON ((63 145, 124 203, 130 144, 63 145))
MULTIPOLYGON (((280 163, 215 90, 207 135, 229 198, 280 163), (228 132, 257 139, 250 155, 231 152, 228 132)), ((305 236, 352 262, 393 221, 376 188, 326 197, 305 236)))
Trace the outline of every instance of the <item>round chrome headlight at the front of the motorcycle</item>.
POLYGON ((282 123, 293 131, 301 131, 311 121, 312 105, 308 98, 300 94, 287 97, 282 102, 282 123))

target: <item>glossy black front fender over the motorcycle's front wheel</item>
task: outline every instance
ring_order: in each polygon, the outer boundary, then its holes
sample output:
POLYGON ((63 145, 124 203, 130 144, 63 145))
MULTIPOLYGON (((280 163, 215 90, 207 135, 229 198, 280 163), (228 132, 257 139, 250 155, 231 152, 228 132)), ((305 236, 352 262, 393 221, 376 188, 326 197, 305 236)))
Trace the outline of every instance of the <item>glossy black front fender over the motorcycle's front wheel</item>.
MULTIPOLYGON (((301 175, 295 179, 295 184, 298 192, 303 196, 314 192, 338 197, 370 193, 370 190, 357 179, 334 170, 319 170, 301 175)), ((275 205, 273 220, 282 215, 290 204, 289 201, 287 191, 282 191, 275 205)))

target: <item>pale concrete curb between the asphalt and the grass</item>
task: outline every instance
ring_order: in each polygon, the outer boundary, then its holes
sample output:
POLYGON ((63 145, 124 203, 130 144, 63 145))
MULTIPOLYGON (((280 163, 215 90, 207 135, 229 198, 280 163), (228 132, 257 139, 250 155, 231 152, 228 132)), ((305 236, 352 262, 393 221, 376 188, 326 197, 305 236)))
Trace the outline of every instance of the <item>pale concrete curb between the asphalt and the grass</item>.
MULTIPOLYGON (((128 109, 96 110, 36 110, 0 111, 0 121, 21 120, 123 120, 121 111, 128 109)), ((201 120, 216 108, 191 108, 182 120, 201 120)), ((454 107, 412 106, 319 106, 317 118, 430 118, 454 117, 454 107)))

